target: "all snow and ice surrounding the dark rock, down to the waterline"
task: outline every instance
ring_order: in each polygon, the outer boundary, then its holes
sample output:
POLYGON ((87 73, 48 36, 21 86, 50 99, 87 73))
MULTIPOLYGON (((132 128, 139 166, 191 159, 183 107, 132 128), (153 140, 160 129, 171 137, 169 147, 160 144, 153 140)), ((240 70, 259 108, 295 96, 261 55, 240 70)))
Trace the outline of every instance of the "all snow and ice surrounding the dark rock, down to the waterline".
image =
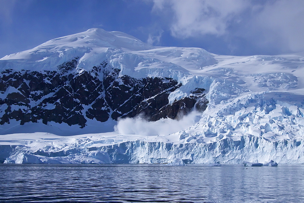
POLYGON ((107 60, 120 75, 173 78, 183 86, 169 103, 204 88, 207 109, 179 120, 92 120, 83 129, 12 121, 0 126, 2 163, 304 163, 303 53, 221 56, 94 28, 5 56, 0 71, 52 71, 74 57, 78 73, 107 60))

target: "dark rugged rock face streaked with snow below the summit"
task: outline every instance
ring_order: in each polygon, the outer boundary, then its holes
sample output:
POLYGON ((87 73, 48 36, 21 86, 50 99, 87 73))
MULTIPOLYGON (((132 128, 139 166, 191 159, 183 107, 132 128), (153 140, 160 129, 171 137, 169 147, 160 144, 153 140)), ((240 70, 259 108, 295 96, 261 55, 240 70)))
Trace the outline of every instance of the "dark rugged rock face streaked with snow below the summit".
POLYGON ((169 104, 169 94, 181 87, 172 78, 119 76, 120 70, 106 61, 78 73, 77 59, 61 64, 57 71, 2 71, 0 125, 16 119, 21 125, 41 120, 83 128, 89 119, 105 122, 143 114, 156 121, 178 119, 194 107, 206 109, 204 89, 169 104))

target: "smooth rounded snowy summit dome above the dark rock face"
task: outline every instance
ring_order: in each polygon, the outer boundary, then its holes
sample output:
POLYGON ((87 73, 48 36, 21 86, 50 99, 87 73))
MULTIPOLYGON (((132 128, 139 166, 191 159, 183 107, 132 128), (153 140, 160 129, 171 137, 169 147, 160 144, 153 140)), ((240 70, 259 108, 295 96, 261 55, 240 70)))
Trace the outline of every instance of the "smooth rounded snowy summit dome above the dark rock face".
POLYGON ((38 61, 51 55, 60 55, 68 49, 84 50, 84 53, 86 53, 96 48, 141 51, 154 49, 155 47, 126 33, 107 32, 101 28, 91 28, 85 32, 49 40, 33 49, 7 55, 1 60, 38 61))

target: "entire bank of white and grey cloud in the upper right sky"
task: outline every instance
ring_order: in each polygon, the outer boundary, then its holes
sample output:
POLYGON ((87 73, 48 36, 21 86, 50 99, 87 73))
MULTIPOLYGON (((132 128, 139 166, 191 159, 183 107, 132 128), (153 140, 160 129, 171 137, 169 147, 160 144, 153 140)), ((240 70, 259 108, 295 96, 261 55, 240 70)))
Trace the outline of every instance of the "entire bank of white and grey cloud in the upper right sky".
POLYGON ((168 26, 176 38, 213 35, 228 44, 241 38, 260 49, 304 50, 303 0, 154 0, 152 12, 172 13, 168 26))

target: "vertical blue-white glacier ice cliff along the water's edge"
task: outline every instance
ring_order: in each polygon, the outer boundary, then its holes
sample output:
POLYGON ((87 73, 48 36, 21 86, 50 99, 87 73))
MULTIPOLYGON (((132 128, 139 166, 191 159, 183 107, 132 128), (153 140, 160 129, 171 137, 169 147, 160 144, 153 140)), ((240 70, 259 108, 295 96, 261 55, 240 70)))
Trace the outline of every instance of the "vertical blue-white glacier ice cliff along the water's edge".
MULTIPOLYGON (((70 140, 47 138, 47 135, 44 137, 23 142, 14 139, 14 142, 20 143, 0 143, 0 160, 4 163, 173 163, 172 165, 176 162, 181 165, 218 161, 236 164, 244 160, 258 160, 260 163, 269 160, 278 163, 304 162, 304 142, 298 139, 273 142, 263 137, 247 135, 241 136, 239 140, 225 138, 212 143, 174 144, 146 140, 149 137, 119 143, 101 135, 74 137, 73 140, 71 137, 65 138, 70 140)), ((157 139, 157 136, 153 139, 157 139)))

